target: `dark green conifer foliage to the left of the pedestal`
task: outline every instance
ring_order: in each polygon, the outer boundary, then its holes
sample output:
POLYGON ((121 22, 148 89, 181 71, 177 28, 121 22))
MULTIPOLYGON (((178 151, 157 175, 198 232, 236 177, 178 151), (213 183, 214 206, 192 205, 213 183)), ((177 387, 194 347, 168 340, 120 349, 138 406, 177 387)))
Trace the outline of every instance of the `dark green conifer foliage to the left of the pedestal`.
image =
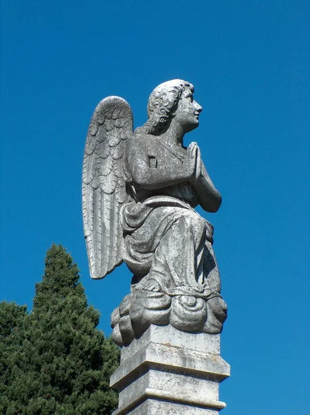
POLYGON ((0 303, 1 396, 6 415, 105 415, 117 405, 109 377, 119 351, 96 329, 79 270, 62 246, 48 250, 33 311, 0 303))

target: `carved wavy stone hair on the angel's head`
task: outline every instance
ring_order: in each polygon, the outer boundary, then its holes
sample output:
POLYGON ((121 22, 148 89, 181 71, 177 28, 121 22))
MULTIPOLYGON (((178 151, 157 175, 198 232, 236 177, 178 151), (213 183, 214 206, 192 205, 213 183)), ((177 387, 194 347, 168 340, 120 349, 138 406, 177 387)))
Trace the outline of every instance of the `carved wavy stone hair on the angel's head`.
POLYGON ((194 93, 194 86, 183 80, 167 81, 156 86, 149 95, 147 103, 149 119, 142 127, 147 134, 156 136, 161 133, 167 121, 174 116, 174 111, 176 111, 179 99, 185 89, 190 89, 194 93))

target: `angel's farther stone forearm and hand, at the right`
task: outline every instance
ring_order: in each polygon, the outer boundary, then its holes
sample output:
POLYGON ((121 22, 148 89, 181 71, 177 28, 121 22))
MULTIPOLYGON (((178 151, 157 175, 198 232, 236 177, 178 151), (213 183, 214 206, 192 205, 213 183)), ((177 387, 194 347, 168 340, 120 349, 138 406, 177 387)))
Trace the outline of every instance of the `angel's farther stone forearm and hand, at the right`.
POLYGON ((199 205, 206 212, 215 213, 221 206, 221 194, 215 188, 207 172, 205 165, 201 160, 200 150, 197 147, 197 166, 196 174, 192 179, 192 184, 197 192, 199 205))

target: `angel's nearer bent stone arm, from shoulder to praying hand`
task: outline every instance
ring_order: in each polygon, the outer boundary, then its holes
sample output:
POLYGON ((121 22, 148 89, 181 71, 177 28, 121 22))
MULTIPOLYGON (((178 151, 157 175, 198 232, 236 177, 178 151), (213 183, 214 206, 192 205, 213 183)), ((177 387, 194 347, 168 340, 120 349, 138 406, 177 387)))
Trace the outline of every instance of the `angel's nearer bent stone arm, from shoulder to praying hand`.
POLYGON ((154 169, 149 167, 149 157, 143 138, 131 140, 127 147, 127 160, 132 178, 143 189, 156 190, 170 185, 190 181, 194 175, 196 155, 188 151, 185 163, 179 169, 154 169))

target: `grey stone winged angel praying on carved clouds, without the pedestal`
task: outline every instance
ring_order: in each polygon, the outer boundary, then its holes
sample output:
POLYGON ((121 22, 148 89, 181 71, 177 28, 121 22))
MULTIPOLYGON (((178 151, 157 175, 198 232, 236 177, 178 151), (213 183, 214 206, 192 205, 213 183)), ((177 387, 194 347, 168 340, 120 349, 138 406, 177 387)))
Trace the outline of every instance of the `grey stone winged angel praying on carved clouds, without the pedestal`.
POLYGON ((112 338, 130 344, 150 324, 220 333, 227 306, 212 250, 212 225, 194 208, 217 212, 221 196, 185 133, 201 106, 184 80, 164 82, 133 130, 129 104, 111 96, 96 107, 86 137, 82 205, 93 279, 125 261, 131 293, 112 314, 112 338))

